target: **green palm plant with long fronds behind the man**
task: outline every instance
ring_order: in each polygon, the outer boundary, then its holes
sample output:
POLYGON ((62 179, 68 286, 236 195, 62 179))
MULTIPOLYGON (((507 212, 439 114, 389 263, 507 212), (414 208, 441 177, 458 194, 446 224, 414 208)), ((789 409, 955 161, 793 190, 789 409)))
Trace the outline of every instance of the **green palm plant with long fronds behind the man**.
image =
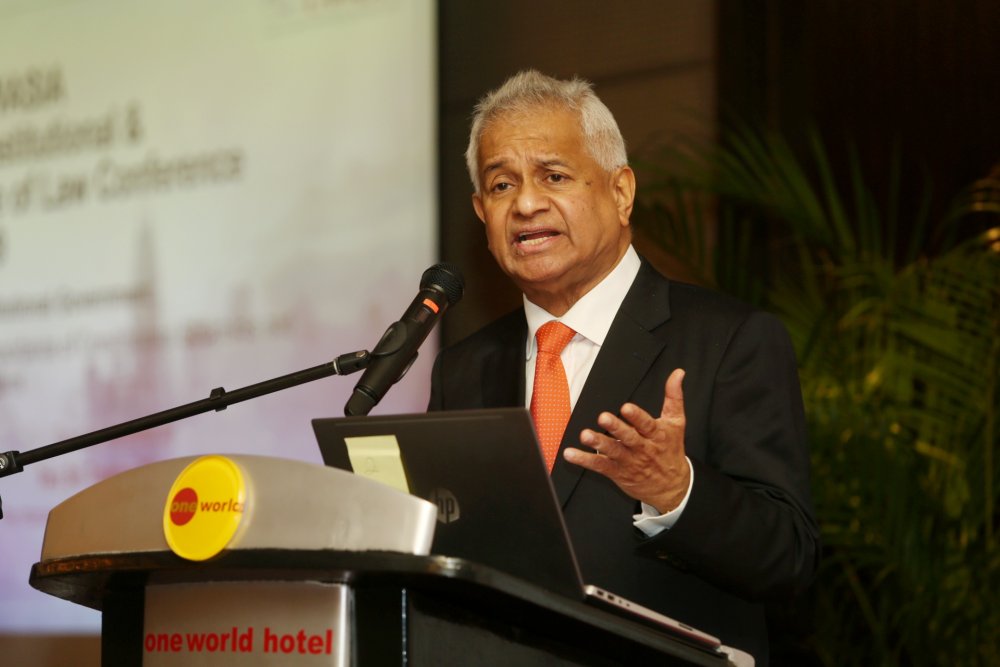
POLYGON ((898 160, 881 206, 856 159, 831 165, 816 133, 803 161, 742 127, 646 164, 636 224, 792 336, 824 540, 814 656, 1000 664, 1000 174, 930 224, 899 214, 898 160))

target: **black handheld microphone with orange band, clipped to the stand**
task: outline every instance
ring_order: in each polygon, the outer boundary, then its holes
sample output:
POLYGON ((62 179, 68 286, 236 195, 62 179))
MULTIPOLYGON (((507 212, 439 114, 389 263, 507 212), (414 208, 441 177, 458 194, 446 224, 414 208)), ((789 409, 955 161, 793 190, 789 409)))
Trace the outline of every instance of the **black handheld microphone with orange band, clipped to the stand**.
POLYGON ((354 386, 344 406, 345 415, 367 415, 389 387, 396 384, 417 358, 417 348, 448 309, 462 298, 465 279, 454 264, 435 264, 420 277, 420 291, 403 313, 389 325, 371 353, 371 363, 354 386))

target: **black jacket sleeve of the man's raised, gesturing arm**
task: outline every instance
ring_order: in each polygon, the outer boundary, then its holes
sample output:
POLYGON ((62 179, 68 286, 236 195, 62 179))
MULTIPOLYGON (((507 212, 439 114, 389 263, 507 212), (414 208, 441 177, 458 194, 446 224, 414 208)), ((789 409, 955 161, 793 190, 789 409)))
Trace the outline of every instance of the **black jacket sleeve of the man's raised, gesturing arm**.
POLYGON ((775 317, 751 313, 729 338, 707 415, 688 505, 640 554, 749 599, 801 591, 816 571, 819 530, 795 355, 775 317))

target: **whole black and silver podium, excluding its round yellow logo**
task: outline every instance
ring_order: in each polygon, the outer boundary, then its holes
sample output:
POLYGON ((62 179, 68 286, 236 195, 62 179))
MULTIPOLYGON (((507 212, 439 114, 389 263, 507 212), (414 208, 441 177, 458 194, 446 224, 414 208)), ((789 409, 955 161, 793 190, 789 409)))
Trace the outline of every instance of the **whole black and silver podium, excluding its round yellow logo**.
POLYGON ((727 665, 431 555, 437 508, 420 498, 318 465, 226 460, 245 482, 241 516, 204 560, 177 555, 165 528, 193 458, 122 473, 50 512, 31 585, 102 612, 103 665, 727 665))

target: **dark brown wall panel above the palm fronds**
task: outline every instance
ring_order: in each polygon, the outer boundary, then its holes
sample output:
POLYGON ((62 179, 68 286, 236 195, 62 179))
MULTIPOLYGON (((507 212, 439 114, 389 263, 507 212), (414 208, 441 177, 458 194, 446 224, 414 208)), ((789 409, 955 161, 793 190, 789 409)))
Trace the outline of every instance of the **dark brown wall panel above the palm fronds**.
POLYGON ((723 0, 719 104, 801 147, 818 128, 880 199, 900 159, 902 219, 930 218, 1000 160, 1000 3, 994 0, 723 0))

